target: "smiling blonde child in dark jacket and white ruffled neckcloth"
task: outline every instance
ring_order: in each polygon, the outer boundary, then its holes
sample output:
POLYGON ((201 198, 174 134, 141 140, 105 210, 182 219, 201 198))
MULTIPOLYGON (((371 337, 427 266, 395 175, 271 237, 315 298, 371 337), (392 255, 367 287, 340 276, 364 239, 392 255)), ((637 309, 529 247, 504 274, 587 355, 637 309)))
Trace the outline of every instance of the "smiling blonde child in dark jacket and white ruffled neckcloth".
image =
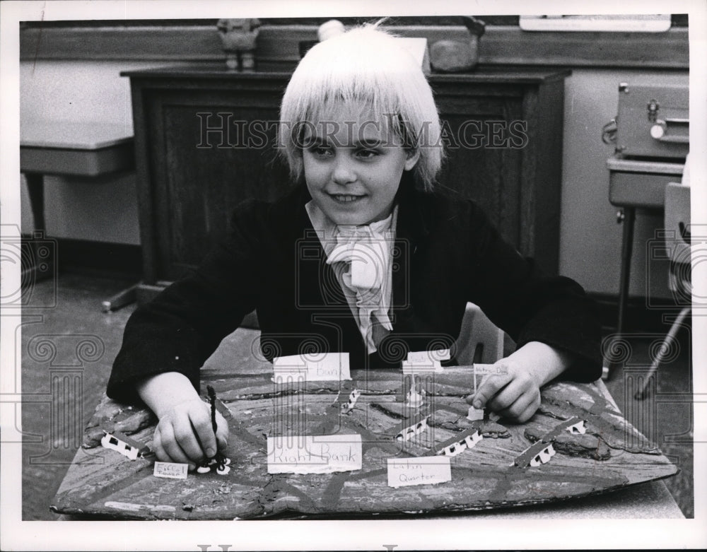
POLYGON ((239 206, 199 269, 125 328, 107 393, 156 413, 158 459, 193 469, 226 446, 226 422, 214 435, 199 399, 199 368, 254 309, 269 360, 341 351, 353 368, 394 369, 407 351, 453 347, 476 303, 518 349, 498 362, 506 375, 467 401, 521 422, 554 377, 601 375, 582 288, 540 276, 473 201, 433 189, 436 105, 395 38, 365 26, 310 49, 285 92, 279 139, 297 187, 239 206))

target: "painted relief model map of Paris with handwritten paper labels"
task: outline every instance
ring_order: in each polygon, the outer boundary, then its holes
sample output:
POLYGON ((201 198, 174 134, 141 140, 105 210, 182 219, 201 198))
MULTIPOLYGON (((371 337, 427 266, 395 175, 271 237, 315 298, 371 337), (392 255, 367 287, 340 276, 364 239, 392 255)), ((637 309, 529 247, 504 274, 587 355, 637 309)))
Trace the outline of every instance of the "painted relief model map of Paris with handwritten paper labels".
POLYGON ((549 384, 539 411, 518 424, 469 416, 460 382, 474 366, 349 370, 345 353, 267 366, 202 372, 204 400, 230 429, 226 473, 156 476, 154 454, 130 459, 102 447, 107 425, 143 444, 156 423, 147 410, 105 398, 52 508, 116 519, 459 512, 578 498, 677 472, 597 384, 549 384), (325 379, 312 379, 317 373, 325 379))

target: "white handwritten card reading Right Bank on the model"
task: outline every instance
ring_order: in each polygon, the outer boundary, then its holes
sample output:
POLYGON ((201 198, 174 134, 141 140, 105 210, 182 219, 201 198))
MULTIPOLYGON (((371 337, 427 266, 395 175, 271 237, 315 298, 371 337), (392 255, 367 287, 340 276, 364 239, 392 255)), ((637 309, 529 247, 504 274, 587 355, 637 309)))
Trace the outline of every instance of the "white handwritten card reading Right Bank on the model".
POLYGON ((299 435, 267 438, 269 474, 333 474, 361 469, 361 435, 299 435))

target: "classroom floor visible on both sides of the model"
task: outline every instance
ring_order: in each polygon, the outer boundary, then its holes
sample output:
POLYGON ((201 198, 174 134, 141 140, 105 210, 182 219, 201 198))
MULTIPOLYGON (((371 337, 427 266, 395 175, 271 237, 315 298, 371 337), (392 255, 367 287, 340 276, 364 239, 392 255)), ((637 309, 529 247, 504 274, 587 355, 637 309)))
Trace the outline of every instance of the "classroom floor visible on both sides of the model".
MULTIPOLYGON (((122 330, 134 305, 103 313, 100 302, 132 282, 60 274, 37 283, 23 310, 21 336, 23 404, 22 516, 59 519, 49 503, 81 444, 83 427, 93 413, 118 352, 122 330)), ((665 331, 667 331, 667 326, 665 331)), ((660 369, 658 392, 633 399, 636 374, 650 365, 660 334, 628 339, 626 368, 607 387, 626 418, 652 438, 680 473, 665 481, 686 517, 694 517, 691 351, 683 331, 669 361, 660 369)))

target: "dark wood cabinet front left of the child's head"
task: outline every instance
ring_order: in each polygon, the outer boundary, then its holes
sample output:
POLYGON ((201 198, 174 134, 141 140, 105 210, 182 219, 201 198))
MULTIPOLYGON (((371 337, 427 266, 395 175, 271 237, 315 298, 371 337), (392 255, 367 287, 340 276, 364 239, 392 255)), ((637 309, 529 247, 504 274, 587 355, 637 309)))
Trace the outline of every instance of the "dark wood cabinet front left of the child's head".
MULTIPOLYGON (((274 199, 288 186, 273 147, 288 75, 214 78, 153 74, 133 79, 145 281, 173 281, 199 264, 244 199, 274 199), (234 107, 235 106, 235 107, 234 107), (221 115, 219 115, 221 114, 221 115), (221 118, 223 117, 223 118, 221 118), (207 131, 223 121, 230 133, 207 131), (236 122, 264 122, 259 147, 241 147, 236 122), (273 123, 273 124, 269 124, 273 123)), ((236 75, 237 76, 237 75, 236 75)), ((247 145, 247 144, 246 144, 247 145)), ((252 144, 251 144, 252 145, 252 144)), ((257 144, 256 144, 257 145, 257 144)))

